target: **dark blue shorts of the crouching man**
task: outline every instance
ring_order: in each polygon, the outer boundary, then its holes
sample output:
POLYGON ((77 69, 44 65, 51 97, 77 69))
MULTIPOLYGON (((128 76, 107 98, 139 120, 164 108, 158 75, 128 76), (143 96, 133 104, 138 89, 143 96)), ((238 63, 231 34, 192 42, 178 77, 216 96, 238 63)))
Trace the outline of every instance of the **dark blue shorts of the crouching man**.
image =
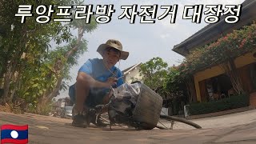
MULTIPOLYGON (((110 89, 94 88, 90 89, 89 95, 84 102, 87 107, 95 107, 97 105, 103 104, 103 99, 108 95, 110 89)), ((70 86, 69 90, 70 101, 75 103, 75 84, 70 86)))

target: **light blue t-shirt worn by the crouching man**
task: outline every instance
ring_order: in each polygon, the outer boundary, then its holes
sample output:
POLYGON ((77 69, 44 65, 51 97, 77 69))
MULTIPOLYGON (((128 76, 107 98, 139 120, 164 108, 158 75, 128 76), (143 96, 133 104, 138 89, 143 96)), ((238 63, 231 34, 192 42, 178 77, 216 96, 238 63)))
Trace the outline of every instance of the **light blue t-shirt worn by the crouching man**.
POLYGON ((107 70, 106 66, 104 66, 103 60, 98 58, 88 59, 86 63, 84 63, 78 70, 78 72, 89 74, 92 78, 99 82, 106 82, 108 78, 116 77, 118 78, 118 82, 117 85, 112 86, 113 88, 121 86, 124 83, 121 70, 119 70, 116 66, 112 66, 110 70, 107 70))

